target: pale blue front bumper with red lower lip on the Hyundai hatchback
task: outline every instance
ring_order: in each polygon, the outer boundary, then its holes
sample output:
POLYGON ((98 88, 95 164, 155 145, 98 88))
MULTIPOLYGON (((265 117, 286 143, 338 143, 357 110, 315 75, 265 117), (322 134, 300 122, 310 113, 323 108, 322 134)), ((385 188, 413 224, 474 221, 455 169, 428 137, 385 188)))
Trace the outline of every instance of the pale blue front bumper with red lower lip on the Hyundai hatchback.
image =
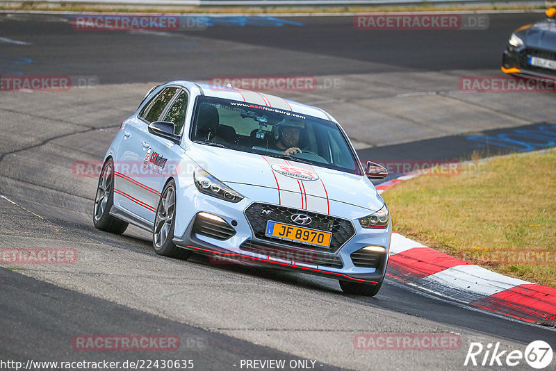
MULTIPOLYGON (((241 201, 231 204, 214 197, 197 195, 195 200, 196 213, 191 218, 181 236, 174 236, 174 243, 182 248, 190 249, 199 254, 208 255, 211 261, 238 261, 256 265, 277 267, 286 270, 297 270, 309 274, 331 277, 343 281, 357 281, 361 283, 381 283, 386 272, 391 240, 391 223, 388 229, 362 229, 357 219, 351 220, 354 234, 347 241, 341 242, 329 251, 311 246, 300 247, 281 243, 279 240, 269 240, 259 233, 255 233, 252 222, 247 218, 246 211, 254 204, 252 201, 241 201), (222 240, 218 236, 207 236, 199 231, 196 224, 199 213, 210 213, 222 218, 228 226, 233 227, 233 236, 222 240), (259 238, 258 238, 259 237, 259 238), (360 252, 363 247, 384 247, 385 254, 382 262, 376 267, 361 267, 354 265, 352 254, 360 252), (339 262, 339 263, 338 263, 339 262)), ((280 207, 278 205, 271 205, 280 207)), ((300 213, 308 211, 299 210, 300 213)), ((346 213, 350 215, 352 213, 346 213)), ((330 217, 329 215, 323 215, 330 217)), ((363 217, 365 215, 360 215, 363 217)), ((226 227, 228 228, 228 227, 226 227)), ((356 254, 357 255, 357 254, 356 254)), ((357 259, 356 263, 357 263, 357 259)))

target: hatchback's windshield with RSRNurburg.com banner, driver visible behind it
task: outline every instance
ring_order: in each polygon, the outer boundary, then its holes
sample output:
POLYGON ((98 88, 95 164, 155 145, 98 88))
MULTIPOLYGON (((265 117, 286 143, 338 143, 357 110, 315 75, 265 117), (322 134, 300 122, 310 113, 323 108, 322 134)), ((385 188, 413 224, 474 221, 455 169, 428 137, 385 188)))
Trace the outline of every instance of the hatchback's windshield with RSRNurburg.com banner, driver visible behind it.
POLYGON ((352 149, 334 122, 289 110, 197 97, 190 139, 360 174, 352 149))

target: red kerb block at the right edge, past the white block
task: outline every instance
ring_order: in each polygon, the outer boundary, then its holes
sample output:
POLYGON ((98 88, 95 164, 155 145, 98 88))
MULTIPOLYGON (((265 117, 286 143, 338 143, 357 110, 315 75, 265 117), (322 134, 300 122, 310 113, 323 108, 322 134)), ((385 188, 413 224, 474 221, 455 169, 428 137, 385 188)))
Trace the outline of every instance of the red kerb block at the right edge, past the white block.
POLYGON ((534 283, 518 285, 469 303, 526 322, 556 325, 556 289, 534 283))

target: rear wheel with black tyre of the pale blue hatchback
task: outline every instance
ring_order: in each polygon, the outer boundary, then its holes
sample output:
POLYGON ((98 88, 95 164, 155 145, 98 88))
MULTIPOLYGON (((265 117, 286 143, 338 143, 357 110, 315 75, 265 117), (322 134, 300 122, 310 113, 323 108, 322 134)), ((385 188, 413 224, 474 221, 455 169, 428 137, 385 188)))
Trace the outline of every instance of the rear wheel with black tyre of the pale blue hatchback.
POLYGON ((110 215, 114 204, 114 162, 108 158, 102 166, 95 195, 95 206, 92 210, 92 223, 96 229, 115 234, 122 234, 128 223, 110 215))

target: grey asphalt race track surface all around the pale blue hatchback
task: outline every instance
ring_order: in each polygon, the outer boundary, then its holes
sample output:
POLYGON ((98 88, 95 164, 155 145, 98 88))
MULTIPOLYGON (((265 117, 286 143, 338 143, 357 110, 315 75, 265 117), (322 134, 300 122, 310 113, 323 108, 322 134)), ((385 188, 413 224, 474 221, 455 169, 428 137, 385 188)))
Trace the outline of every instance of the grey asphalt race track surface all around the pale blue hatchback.
POLYGON ((337 281, 320 277, 156 256, 144 231, 94 229, 97 179, 74 169, 76 161, 101 160, 152 85, 212 76, 315 76, 315 90, 275 94, 328 110, 362 159, 548 147, 549 140, 512 137, 511 147, 477 137, 552 128, 553 93, 458 89, 461 76, 500 76, 509 33, 542 17, 491 14, 481 31, 359 31, 352 17, 265 17, 163 32, 76 31, 63 15, 0 14, 2 76, 92 82, 69 92, 0 91, 0 247, 72 248, 79 256, 72 265, 0 267, 0 361, 165 358, 191 359, 195 370, 245 370, 241 360, 284 359, 307 366, 295 369, 464 370, 473 342, 523 351, 544 340, 554 348, 553 329, 389 279, 366 298, 343 295, 337 281), (360 333, 453 333, 461 346, 358 350, 360 333), (180 346, 86 352, 72 346, 83 334, 173 334, 180 346))

